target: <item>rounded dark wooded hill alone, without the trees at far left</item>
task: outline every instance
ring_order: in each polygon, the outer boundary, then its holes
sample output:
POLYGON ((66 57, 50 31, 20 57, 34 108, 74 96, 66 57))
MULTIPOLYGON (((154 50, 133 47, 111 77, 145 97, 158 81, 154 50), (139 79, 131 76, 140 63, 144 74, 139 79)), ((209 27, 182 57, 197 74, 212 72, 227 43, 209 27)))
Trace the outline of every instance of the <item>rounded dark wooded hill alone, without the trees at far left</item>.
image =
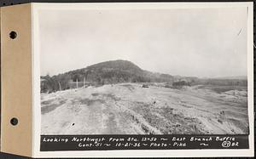
POLYGON ((75 82, 85 80, 96 83, 117 82, 172 82, 171 75, 144 71, 128 60, 111 60, 96 65, 90 65, 84 69, 65 73, 75 82))

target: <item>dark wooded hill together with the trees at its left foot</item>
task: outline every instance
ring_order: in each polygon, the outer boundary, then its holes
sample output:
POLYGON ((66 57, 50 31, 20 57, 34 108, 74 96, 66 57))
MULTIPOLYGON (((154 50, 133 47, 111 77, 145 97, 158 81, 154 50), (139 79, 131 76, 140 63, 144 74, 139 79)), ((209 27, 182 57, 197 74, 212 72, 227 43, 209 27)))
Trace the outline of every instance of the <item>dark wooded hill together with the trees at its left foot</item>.
POLYGON ((111 84, 119 82, 173 82, 175 77, 168 74, 144 71, 128 60, 110 60, 85 68, 68 71, 53 77, 45 76, 44 88, 41 91, 69 88, 70 82, 86 82, 93 85, 111 84), (49 84, 51 83, 51 84, 49 84))

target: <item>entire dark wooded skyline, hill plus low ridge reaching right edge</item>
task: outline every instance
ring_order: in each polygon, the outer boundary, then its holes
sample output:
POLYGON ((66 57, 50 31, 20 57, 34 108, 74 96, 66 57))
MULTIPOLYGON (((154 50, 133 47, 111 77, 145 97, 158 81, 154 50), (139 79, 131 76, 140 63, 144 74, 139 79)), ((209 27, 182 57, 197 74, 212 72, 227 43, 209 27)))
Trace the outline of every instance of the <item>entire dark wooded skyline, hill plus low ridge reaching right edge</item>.
POLYGON ((114 84, 119 82, 168 82, 176 85, 247 86, 247 77, 198 78, 181 77, 145 71, 128 60, 110 60, 85 68, 67 71, 53 77, 41 77, 41 92, 76 88, 86 85, 114 84))

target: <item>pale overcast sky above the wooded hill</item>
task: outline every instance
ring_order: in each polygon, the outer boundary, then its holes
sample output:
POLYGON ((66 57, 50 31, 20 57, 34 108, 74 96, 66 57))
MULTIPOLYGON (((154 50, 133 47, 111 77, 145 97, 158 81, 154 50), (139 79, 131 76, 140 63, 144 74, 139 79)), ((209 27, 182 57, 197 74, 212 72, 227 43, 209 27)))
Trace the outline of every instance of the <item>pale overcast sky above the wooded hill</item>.
POLYGON ((193 77, 247 75, 247 9, 41 10, 41 75, 107 60, 193 77))

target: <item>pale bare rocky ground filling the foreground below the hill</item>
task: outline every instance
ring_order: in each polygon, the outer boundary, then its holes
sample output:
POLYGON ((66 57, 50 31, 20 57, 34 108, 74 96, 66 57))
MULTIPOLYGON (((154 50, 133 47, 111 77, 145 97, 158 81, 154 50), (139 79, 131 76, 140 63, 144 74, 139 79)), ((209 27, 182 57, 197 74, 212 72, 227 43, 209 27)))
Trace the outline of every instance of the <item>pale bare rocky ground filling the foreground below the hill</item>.
POLYGON ((122 83, 41 94, 41 133, 248 133, 246 90, 142 86, 122 83))

